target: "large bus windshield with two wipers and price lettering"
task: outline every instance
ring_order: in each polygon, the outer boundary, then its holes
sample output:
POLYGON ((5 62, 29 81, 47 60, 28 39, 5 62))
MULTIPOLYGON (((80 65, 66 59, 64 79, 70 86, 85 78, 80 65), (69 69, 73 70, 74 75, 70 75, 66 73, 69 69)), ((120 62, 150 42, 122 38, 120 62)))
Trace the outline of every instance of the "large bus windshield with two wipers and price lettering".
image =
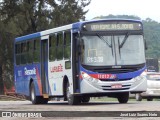
POLYGON ((84 35, 81 62, 89 66, 145 63, 143 35, 84 35))

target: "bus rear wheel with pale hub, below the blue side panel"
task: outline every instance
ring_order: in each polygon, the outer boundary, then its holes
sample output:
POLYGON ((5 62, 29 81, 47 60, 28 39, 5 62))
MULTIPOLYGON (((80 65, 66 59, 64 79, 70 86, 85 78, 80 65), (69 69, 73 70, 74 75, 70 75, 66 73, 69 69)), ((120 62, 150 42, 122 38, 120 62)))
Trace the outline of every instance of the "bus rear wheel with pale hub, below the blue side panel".
POLYGON ((35 86, 33 82, 30 86, 30 100, 32 104, 40 104, 41 102, 40 97, 36 96, 35 86))

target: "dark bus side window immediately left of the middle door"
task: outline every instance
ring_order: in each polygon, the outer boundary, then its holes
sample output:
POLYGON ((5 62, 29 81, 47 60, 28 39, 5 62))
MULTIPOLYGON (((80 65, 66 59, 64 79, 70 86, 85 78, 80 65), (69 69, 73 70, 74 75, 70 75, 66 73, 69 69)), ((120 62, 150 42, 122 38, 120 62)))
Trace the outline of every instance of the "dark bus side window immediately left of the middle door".
POLYGON ((40 62, 40 40, 34 40, 33 61, 40 62))

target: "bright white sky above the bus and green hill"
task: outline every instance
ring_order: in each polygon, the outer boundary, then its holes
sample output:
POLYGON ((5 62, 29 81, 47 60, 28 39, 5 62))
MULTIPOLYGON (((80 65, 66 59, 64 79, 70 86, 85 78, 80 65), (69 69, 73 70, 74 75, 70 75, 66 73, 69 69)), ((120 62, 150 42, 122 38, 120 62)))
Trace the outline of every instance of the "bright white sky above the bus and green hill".
POLYGON ((151 18, 160 22, 160 0, 91 0, 85 10, 86 20, 97 16, 135 15, 142 20, 151 18))

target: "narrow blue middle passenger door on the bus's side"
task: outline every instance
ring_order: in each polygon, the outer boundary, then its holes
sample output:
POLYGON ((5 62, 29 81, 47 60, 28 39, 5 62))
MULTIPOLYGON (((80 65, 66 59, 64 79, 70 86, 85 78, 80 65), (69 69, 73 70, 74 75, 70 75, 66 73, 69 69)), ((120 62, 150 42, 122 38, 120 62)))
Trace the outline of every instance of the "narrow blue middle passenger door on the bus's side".
POLYGON ((42 95, 48 98, 49 82, 48 82, 48 36, 41 39, 41 83, 42 95))

